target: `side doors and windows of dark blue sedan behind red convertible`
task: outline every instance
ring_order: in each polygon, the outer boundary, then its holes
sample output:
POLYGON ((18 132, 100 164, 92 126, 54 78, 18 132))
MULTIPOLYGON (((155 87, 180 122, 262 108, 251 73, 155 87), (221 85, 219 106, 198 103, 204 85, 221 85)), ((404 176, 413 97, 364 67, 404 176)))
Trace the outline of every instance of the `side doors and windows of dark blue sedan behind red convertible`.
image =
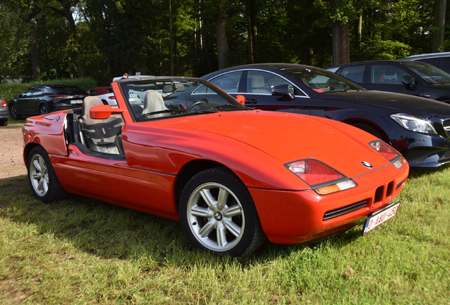
POLYGON ((296 85, 270 71, 259 69, 233 71, 209 80, 233 97, 243 95, 248 107, 262 110, 295 108, 297 113, 309 114, 310 98, 296 85), (277 86, 287 85, 291 97, 274 95, 277 86))

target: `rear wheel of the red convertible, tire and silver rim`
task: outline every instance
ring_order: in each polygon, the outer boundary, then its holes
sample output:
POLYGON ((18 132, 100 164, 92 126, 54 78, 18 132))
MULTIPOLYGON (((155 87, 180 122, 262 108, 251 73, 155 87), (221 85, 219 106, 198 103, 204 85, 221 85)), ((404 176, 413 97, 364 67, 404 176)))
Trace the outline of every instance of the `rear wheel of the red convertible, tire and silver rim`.
POLYGON ((59 183, 52 162, 42 146, 33 148, 28 155, 28 181, 34 196, 42 202, 51 203, 68 195, 59 183))

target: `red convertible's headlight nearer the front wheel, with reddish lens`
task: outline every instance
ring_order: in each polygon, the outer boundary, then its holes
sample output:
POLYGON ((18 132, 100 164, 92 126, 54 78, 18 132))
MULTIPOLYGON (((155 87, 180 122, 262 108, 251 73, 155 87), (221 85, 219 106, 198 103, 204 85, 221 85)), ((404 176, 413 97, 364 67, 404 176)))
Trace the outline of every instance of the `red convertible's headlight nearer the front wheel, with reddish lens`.
POLYGON ((311 189, 321 195, 335 193, 357 186, 352 179, 345 177, 340 172, 337 172, 337 170, 318 160, 298 160, 286 163, 284 166, 311 186, 311 189))

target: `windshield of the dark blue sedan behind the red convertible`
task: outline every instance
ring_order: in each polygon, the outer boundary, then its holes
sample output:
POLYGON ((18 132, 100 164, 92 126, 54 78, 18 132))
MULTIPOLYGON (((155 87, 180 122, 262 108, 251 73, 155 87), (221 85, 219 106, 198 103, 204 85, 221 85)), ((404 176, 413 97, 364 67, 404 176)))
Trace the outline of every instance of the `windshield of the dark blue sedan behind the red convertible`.
POLYGON ((359 87, 359 85, 347 80, 347 78, 343 78, 333 72, 324 71, 322 69, 311 67, 287 68, 282 71, 319 93, 364 90, 362 87, 359 87))

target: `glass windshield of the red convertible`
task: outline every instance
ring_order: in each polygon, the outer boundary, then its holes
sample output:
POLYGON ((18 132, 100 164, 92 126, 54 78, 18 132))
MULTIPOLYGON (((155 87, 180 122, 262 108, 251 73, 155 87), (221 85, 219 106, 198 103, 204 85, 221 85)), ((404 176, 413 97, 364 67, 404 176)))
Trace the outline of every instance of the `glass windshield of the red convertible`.
POLYGON ((144 78, 120 82, 137 121, 173 116, 246 110, 212 83, 198 78, 144 78))

